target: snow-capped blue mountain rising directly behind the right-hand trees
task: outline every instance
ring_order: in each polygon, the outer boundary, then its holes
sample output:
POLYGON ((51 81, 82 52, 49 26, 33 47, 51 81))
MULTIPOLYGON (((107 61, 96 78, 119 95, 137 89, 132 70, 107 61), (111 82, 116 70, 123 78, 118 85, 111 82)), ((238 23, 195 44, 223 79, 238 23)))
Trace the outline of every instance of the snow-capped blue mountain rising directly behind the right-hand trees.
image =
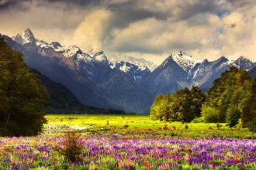
POLYGON ((192 87, 192 85, 201 89, 209 89, 213 81, 219 78, 225 70, 229 70, 230 66, 251 70, 255 63, 244 57, 229 61, 225 56, 209 62, 207 59, 194 59, 192 56, 179 52, 165 59, 141 84, 154 95, 174 93, 176 90, 192 87))

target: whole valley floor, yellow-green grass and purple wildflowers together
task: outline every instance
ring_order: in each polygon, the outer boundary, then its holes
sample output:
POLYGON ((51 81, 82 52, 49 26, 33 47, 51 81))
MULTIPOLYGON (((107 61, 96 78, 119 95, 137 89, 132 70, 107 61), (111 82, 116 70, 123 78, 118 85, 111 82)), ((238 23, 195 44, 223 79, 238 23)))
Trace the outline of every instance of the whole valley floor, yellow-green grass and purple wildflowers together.
POLYGON ((238 124, 151 121, 147 115, 47 115, 43 134, 0 138, 1 170, 256 169, 256 139, 238 124), (82 161, 56 148, 81 129, 82 161))

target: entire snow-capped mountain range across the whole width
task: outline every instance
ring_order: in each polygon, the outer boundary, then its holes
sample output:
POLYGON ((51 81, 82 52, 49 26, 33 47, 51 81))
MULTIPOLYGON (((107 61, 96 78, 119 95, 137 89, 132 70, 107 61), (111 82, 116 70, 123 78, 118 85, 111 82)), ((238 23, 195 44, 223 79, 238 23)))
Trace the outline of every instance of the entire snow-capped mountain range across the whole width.
POLYGON ((84 53, 78 46, 48 43, 36 39, 30 29, 12 38, 0 34, 0 38, 21 52, 29 67, 67 87, 81 104, 137 114, 147 113, 159 93, 192 85, 209 89, 230 66, 244 70, 256 66, 244 56, 234 61, 224 56, 208 61, 179 52, 156 67, 145 59, 108 57, 102 50, 84 53))

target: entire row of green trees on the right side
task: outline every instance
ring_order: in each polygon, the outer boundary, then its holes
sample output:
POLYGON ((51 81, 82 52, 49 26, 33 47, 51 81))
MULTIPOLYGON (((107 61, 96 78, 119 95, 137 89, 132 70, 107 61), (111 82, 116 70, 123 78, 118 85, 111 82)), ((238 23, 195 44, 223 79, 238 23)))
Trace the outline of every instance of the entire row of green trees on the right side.
POLYGON ((245 70, 230 67, 214 80, 208 93, 199 87, 160 94, 150 109, 152 120, 191 122, 197 117, 208 123, 227 123, 230 128, 242 120, 243 127, 256 130, 256 79, 245 70))

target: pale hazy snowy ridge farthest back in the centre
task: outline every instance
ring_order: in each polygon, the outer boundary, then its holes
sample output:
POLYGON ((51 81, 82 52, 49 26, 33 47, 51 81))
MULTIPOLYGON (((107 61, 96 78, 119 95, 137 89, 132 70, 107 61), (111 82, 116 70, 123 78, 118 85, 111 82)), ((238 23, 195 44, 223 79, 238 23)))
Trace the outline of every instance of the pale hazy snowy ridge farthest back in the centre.
POLYGON ((155 68, 157 68, 157 65, 155 65, 154 63, 142 58, 137 59, 133 56, 118 56, 116 54, 113 54, 109 56, 109 60, 112 63, 116 63, 117 61, 123 61, 123 62, 135 64, 137 66, 146 66, 151 72, 154 71, 155 68))

